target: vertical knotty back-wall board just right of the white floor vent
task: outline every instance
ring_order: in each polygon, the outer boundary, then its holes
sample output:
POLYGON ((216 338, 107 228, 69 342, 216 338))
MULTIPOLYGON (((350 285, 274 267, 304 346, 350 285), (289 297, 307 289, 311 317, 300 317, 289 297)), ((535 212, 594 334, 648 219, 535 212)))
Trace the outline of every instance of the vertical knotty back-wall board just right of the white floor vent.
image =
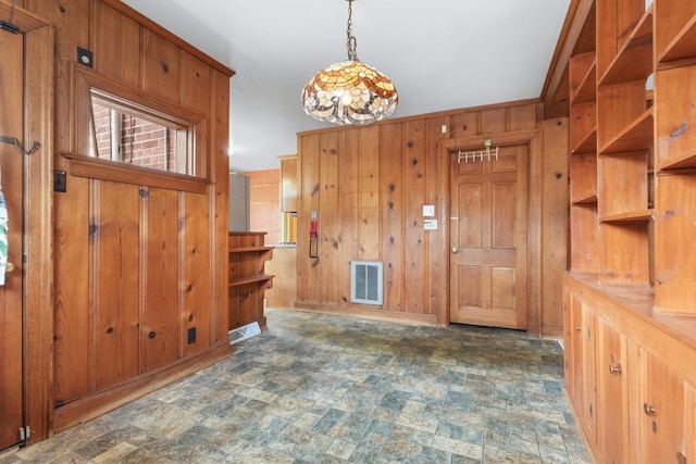
POLYGON ((380 172, 382 172, 382 260, 384 261, 384 306, 403 311, 403 124, 388 124, 381 129, 380 172))

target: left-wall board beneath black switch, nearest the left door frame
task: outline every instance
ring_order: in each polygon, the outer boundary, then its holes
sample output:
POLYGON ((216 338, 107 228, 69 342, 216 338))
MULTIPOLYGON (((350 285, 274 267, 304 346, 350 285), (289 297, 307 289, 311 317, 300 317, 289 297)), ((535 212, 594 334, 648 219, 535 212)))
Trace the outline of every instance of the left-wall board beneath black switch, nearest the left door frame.
POLYGON ((89 392, 89 181, 54 196, 53 402, 89 392))

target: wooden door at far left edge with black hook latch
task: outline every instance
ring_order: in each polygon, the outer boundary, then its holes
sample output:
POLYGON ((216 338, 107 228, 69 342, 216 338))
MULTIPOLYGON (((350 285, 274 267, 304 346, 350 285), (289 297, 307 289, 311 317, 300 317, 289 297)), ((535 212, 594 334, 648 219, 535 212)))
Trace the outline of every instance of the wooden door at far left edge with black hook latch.
MULTIPOLYGON (((24 38, 0 30, 0 136, 23 137, 24 38)), ((7 139, 4 139, 7 141, 7 139)), ((0 450, 21 442, 23 403, 22 226, 24 155, 11 143, 0 143, 0 186, 8 205, 8 264, 0 285, 0 450)))

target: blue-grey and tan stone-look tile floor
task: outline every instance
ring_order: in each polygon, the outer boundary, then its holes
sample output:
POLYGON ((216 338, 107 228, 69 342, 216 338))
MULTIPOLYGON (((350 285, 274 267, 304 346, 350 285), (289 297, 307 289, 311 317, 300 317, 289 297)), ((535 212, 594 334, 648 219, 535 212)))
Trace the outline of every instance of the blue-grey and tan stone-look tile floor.
POLYGON ((2 464, 591 462, 557 341, 266 315, 229 359, 2 464))

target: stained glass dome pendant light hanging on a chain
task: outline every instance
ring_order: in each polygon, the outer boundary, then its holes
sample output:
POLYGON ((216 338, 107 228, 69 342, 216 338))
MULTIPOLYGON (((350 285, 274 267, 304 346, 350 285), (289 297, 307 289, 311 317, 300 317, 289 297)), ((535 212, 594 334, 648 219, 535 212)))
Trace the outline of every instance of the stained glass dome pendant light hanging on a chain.
POLYGON ((390 116, 398 104, 394 83, 374 67, 361 63, 352 35, 352 1, 348 0, 348 60, 321 70, 307 81, 301 102, 315 120, 333 124, 365 125, 390 116))

